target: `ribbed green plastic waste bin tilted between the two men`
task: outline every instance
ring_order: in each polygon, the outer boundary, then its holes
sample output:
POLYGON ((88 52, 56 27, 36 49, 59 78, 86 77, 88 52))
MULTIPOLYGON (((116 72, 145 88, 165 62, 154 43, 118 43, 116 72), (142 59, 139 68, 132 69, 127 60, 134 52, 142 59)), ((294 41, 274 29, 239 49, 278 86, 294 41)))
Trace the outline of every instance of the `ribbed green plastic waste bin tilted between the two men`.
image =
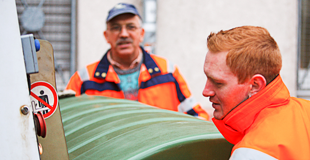
POLYGON ((228 160, 232 144, 212 122, 137 101, 59 99, 70 160, 228 160))

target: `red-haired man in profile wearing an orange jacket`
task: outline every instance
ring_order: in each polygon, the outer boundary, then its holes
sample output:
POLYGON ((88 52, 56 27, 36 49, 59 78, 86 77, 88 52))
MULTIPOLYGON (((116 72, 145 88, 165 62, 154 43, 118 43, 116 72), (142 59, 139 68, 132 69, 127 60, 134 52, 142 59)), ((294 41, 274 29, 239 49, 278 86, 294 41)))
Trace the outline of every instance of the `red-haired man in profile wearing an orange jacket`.
POLYGON ((243 26, 211 33, 203 95, 215 126, 235 144, 231 160, 309 160, 310 101, 291 97, 269 32, 243 26))

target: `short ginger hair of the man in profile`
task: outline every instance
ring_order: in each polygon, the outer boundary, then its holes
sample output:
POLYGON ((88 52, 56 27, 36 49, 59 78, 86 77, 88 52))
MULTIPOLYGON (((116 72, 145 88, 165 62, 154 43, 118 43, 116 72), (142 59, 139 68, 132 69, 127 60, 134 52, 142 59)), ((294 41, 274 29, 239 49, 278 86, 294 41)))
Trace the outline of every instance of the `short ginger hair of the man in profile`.
POLYGON ((241 84, 255 74, 264 76, 268 84, 282 67, 278 45, 262 27, 243 26, 212 32, 207 46, 213 53, 228 51, 226 64, 241 84))

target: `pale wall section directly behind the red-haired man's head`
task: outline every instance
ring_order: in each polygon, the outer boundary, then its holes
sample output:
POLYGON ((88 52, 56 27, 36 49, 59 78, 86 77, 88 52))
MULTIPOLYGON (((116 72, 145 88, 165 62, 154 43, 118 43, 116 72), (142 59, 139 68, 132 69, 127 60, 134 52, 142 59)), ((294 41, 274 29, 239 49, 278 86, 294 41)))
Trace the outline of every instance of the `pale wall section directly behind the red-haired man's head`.
POLYGON ((178 64, 205 108, 203 64, 210 32, 252 25, 266 28, 282 54, 284 83, 296 96, 297 0, 157 0, 156 54, 178 64))

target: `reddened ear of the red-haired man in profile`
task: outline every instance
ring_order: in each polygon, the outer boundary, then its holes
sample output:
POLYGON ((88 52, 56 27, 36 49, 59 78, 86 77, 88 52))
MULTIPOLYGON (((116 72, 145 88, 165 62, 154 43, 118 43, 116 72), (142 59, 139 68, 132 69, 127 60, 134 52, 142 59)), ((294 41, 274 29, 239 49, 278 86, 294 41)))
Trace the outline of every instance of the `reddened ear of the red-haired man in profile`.
POLYGON ((250 90, 249 96, 255 95, 257 92, 261 91, 267 85, 265 77, 260 74, 252 76, 250 83, 252 85, 252 88, 250 90))

